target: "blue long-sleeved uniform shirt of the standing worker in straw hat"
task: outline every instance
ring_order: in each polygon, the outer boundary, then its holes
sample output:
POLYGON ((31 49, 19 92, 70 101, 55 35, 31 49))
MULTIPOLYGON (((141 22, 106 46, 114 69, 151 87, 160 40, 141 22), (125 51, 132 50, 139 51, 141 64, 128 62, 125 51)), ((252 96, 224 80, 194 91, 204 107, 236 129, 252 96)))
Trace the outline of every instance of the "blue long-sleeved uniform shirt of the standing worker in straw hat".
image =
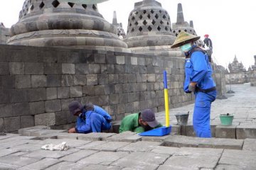
MULTIPOLYGON (((193 47, 196 47, 195 45, 193 47)), ((192 48, 193 48, 192 47, 192 48)), ((188 52, 188 54, 191 50, 188 52)), ((190 58, 185 60, 185 81, 183 89, 186 93, 188 91, 188 85, 191 81, 197 82, 198 88, 210 89, 215 85, 212 78, 213 69, 208 61, 208 55, 203 54, 201 51, 194 51, 190 58)))

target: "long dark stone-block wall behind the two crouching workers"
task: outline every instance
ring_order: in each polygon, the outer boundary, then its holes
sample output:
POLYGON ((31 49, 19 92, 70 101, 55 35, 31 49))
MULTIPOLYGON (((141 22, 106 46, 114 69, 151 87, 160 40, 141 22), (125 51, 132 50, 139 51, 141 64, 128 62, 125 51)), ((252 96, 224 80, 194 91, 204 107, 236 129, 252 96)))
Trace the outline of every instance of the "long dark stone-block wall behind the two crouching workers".
POLYGON ((68 128, 74 99, 105 108, 114 118, 144 108, 164 111, 191 103, 183 93, 183 60, 122 52, 0 45, 0 131, 33 125, 68 128))

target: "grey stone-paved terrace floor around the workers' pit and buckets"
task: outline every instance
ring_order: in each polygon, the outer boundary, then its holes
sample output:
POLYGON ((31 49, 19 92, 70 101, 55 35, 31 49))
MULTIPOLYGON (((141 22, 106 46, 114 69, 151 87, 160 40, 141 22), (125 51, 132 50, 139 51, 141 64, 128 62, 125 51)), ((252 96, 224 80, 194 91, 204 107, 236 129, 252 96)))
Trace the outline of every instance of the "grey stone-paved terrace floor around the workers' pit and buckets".
MULTIPOLYGON (((190 125, 175 125, 175 113, 190 111, 191 120, 193 105, 171 109, 171 124, 176 132, 163 137, 142 137, 134 132, 68 134, 37 126, 0 136, 0 169, 255 170, 256 87, 244 84, 232 88, 234 96, 213 103, 211 120, 216 137, 191 137, 193 132, 186 130, 190 125), (220 126, 221 113, 233 113, 235 125, 220 126), (177 135, 182 131, 191 136, 177 135), (222 135, 217 137, 218 134, 222 135), (61 152, 41 149, 61 142, 67 142, 70 148, 61 152)), ((164 123, 164 112, 157 115, 164 123)))

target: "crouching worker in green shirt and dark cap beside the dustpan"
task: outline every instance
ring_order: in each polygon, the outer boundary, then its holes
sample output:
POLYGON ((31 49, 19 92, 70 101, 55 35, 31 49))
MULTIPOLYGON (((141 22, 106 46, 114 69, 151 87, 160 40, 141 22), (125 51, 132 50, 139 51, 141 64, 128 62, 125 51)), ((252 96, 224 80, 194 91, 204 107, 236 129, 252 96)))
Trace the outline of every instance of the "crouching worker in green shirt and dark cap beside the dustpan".
POLYGON ((146 109, 140 113, 127 115, 122 119, 119 132, 145 132, 154 128, 160 128, 161 123, 157 122, 155 114, 150 109, 146 109))

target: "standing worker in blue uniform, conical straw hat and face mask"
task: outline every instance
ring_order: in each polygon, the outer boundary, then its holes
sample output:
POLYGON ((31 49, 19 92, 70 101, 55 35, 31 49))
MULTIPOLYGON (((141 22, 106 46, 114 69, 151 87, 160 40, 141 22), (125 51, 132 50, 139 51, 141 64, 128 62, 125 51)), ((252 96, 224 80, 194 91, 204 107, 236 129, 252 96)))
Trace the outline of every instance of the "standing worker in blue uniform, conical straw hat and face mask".
POLYGON ((196 96, 193 111, 193 129, 196 136, 211 137, 210 106, 215 101, 217 91, 208 55, 206 51, 194 45, 199 38, 200 36, 181 31, 171 47, 180 47, 186 55, 183 89, 186 93, 193 92, 196 96))

